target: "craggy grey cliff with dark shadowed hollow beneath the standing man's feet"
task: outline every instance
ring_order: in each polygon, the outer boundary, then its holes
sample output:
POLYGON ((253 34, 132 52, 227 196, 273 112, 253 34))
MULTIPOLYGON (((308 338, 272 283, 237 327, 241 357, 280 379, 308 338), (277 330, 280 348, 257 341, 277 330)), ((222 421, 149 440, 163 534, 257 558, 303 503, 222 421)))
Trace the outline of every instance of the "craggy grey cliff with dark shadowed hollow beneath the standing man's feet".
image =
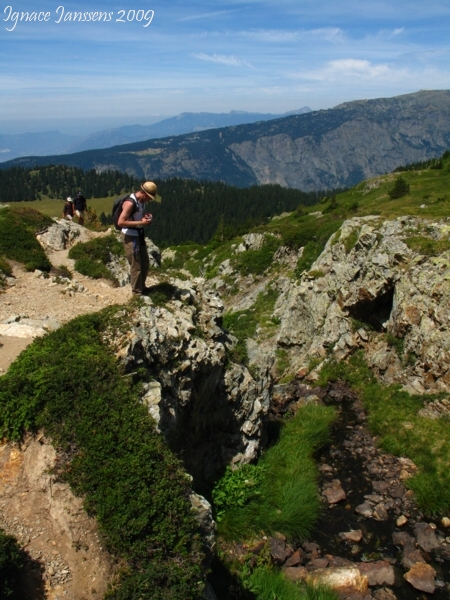
POLYGON ((144 299, 111 343, 126 373, 150 374, 142 401, 202 491, 227 464, 256 458, 270 378, 256 381, 228 360, 223 304, 204 280, 172 280, 164 289, 171 298, 162 306, 144 299))

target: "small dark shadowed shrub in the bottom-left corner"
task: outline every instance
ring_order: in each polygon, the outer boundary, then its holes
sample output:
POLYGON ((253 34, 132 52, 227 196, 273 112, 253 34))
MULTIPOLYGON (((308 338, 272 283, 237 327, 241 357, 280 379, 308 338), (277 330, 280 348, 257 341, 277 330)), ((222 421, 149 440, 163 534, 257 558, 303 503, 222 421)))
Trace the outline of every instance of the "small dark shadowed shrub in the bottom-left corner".
POLYGON ((21 600, 19 589, 26 563, 25 552, 17 541, 0 529, 0 597, 21 600))

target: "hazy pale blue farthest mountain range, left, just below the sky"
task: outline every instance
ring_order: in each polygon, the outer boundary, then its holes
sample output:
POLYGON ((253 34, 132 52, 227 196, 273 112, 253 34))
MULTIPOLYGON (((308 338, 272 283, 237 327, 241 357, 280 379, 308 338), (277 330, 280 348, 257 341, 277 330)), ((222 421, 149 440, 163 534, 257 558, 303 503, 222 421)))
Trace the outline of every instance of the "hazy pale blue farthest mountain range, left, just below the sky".
POLYGON ((169 135, 193 133, 204 129, 242 125, 256 121, 278 119, 290 114, 310 112, 307 106, 284 115, 250 113, 232 110, 229 113, 182 113, 153 125, 126 125, 96 131, 87 136, 66 135, 59 131, 38 133, 0 134, 0 162, 20 156, 68 154, 94 148, 110 148, 119 144, 140 142, 169 135))

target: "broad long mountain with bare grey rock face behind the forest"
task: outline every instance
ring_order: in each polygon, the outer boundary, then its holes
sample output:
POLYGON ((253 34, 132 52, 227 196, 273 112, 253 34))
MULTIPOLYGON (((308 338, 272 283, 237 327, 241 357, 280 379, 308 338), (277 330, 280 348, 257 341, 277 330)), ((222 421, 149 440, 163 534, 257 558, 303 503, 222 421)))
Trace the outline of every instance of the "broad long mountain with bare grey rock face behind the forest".
POLYGON ((329 110, 210 129, 65 156, 3 163, 118 169, 305 191, 352 186, 450 148, 450 91, 358 100, 329 110))

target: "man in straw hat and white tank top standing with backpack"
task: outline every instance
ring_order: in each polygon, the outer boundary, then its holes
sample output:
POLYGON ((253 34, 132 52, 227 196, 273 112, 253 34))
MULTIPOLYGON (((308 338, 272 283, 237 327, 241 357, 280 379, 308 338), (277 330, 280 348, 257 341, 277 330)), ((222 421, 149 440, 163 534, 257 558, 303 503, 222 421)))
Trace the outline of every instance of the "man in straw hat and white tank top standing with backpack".
POLYGON ((131 291, 142 296, 147 293, 145 280, 149 268, 149 257, 145 243, 144 227, 150 225, 153 216, 145 212, 145 203, 156 200, 158 188, 153 181, 146 181, 141 189, 123 200, 122 212, 117 224, 122 231, 125 253, 130 263, 131 291))

